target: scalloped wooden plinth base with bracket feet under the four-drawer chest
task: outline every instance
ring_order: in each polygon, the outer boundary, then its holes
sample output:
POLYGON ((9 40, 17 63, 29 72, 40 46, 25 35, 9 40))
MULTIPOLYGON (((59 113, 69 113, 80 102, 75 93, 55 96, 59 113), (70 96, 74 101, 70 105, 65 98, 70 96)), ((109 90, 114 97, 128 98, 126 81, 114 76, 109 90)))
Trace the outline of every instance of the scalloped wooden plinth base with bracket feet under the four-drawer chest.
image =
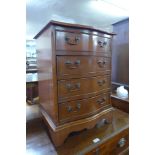
POLYGON ((65 123, 62 125, 59 124, 59 126, 55 126, 55 124, 52 122, 46 111, 44 111, 43 109, 42 114, 44 122, 49 129, 50 136, 54 142, 54 145, 60 146, 64 143, 69 133, 73 131, 75 132, 81 131, 83 129, 91 129, 97 124, 97 122, 101 120, 105 120, 107 123, 111 123, 113 118, 113 110, 113 108, 108 108, 93 116, 65 123))

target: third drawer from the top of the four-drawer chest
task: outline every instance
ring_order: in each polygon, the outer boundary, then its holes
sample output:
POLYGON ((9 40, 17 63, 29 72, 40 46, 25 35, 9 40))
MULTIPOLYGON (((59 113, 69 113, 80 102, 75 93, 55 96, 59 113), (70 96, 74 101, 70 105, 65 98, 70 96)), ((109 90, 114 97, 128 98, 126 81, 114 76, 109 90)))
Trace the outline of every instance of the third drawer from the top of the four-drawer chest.
POLYGON ((58 102, 92 97, 110 90, 110 76, 58 81, 58 102))

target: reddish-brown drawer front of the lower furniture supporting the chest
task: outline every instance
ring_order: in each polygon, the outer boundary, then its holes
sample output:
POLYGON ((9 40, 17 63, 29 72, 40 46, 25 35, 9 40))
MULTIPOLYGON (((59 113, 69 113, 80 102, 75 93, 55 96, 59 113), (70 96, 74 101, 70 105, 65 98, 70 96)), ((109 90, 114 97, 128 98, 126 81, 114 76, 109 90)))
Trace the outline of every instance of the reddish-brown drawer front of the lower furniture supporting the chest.
POLYGON ((86 155, 123 155, 129 147, 129 129, 125 129, 86 155))

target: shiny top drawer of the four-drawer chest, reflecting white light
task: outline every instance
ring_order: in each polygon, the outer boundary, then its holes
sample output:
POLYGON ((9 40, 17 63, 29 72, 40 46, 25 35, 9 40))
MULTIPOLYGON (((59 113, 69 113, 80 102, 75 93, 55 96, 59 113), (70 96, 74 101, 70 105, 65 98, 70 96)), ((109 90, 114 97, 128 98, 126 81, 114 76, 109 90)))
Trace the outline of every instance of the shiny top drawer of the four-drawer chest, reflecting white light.
POLYGON ((96 35, 56 31, 56 50, 111 52, 111 39, 96 35))

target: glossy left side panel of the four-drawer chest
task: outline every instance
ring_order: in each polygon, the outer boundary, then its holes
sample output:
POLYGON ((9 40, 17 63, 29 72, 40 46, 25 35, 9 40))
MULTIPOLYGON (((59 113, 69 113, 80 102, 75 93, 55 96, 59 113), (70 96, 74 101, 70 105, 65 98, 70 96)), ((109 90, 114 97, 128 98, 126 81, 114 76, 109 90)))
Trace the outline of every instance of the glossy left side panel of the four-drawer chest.
POLYGON ((57 78, 54 33, 47 29, 36 39, 39 98, 41 106, 58 124, 57 78))

